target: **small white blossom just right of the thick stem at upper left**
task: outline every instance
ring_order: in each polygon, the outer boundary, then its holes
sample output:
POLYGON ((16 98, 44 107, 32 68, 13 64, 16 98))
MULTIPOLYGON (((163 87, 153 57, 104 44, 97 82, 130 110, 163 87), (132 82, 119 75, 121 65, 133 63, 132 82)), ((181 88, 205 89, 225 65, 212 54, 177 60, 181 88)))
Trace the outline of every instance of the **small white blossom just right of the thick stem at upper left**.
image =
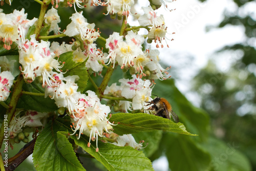
POLYGON ((60 18, 58 12, 55 8, 52 8, 47 11, 45 14, 45 23, 51 25, 49 32, 53 31, 54 34, 59 34, 59 26, 60 18))

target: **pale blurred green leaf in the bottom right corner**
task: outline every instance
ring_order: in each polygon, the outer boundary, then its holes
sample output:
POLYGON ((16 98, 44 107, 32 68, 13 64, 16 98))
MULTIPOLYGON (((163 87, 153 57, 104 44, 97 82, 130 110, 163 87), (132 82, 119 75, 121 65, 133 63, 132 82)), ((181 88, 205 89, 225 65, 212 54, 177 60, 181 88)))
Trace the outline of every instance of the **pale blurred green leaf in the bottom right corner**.
POLYGON ((209 166, 211 170, 249 171, 251 170, 248 159, 239 152, 240 146, 234 142, 224 143, 210 137, 208 143, 203 145, 211 155, 209 166))

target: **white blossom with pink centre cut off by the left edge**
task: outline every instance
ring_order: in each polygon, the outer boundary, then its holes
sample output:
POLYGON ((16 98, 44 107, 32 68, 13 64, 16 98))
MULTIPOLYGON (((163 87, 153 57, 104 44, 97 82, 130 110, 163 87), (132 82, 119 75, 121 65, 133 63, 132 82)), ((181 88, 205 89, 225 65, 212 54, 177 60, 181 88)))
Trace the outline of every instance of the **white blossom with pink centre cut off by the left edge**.
POLYGON ((1 72, 0 69, 0 101, 5 101, 10 95, 13 80, 14 76, 12 76, 10 71, 1 72))

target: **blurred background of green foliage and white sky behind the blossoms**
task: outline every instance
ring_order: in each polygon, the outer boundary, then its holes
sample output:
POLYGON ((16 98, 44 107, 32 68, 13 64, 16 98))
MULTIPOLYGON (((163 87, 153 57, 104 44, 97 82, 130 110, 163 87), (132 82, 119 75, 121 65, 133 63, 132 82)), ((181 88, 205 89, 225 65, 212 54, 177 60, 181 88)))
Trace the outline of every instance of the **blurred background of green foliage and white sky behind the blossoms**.
MULTIPOLYGON (((132 13, 143 14, 141 6, 149 4, 138 1, 132 13)), ((167 5, 157 13, 164 15, 168 33, 175 34, 167 35, 170 48, 165 45, 159 49, 159 57, 162 66, 172 66, 172 77, 157 81, 152 94, 168 99, 187 131, 199 136, 161 131, 133 136, 148 143, 142 151, 155 170, 256 170, 256 2, 179 0, 167 5)), ((32 0, 14 0, 12 6, 1 8, 5 13, 25 8, 32 19, 39 16, 40 6, 32 0)), ((120 20, 102 15, 104 8, 87 7, 83 11, 88 23, 100 28, 102 37, 120 30, 120 20)), ((74 10, 59 8, 58 13, 66 18, 59 25, 63 30, 74 10)), ((136 17, 129 16, 131 26, 139 25, 136 17)), ((140 34, 146 31, 142 29, 140 34)), ((104 46, 101 40, 97 44, 104 46)), ((125 75, 114 74, 109 85, 125 75)), ((102 80, 100 76, 93 79, 97 84, 102 80)), ((93 90, 90 83, 89 89, 93 90)), ((16 145, 10 152, 13 155, 24 144, 16 145)), ((87 170, 105 170, 94 159, 80 159, 87 170)), ((31 160, 17 170, 33 170, 31 160)))

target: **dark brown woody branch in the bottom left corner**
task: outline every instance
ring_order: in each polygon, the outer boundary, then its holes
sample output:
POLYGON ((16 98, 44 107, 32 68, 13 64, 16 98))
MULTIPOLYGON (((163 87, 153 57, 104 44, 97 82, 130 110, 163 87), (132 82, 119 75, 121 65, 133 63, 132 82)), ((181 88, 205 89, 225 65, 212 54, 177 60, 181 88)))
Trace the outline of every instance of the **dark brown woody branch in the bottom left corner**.
POLYGON ((28 142, 24 145, 20 151, 13 156, 12 158, 8 159, 8 167, 6 168, 6 171, 14 170, 20 163, 22 163, 25 159, 27 159, 34 151, 36 138, 34 138, 32 141, 28 142))

